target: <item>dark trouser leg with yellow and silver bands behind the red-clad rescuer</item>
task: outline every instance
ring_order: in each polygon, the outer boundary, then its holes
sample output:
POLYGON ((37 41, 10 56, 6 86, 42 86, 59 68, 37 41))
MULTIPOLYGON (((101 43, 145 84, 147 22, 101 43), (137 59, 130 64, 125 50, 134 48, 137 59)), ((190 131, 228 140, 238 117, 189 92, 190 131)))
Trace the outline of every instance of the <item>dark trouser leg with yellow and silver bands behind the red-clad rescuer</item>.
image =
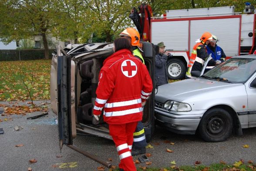
POLYGON ((131 155, 145 154, 146 153, 146 137, 143 124, 138 122, 135 132, 133 133, 133 144, 131 155))

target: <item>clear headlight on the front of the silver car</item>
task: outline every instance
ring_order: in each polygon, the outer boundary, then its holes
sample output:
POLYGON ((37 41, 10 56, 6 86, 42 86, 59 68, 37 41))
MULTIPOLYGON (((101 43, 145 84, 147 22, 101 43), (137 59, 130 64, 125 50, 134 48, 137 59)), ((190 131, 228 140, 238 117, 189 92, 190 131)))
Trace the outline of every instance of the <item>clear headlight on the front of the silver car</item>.
POLYGON ((166 101, 163 108, 167 111, 179 111, 188 112, 191 111, 191 106, 187 103, 182 103, 178 101, 166 101))

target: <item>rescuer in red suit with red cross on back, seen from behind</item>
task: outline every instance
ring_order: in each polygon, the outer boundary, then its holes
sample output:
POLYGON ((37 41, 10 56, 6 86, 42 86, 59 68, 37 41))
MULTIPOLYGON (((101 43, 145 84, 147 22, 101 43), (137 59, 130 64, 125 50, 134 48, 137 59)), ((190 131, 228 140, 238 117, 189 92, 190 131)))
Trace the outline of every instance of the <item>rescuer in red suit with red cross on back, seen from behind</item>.
POLYGON ((150 96, 153 85, 146 66, 132 55, 128 39, 116 39, 114 50, 99 73, 93 114, 97 120, 104 107, 104 121, 121 160, 119 168, 136 171, 131 156, 133 132, 142 120, 142 103, 150 96))

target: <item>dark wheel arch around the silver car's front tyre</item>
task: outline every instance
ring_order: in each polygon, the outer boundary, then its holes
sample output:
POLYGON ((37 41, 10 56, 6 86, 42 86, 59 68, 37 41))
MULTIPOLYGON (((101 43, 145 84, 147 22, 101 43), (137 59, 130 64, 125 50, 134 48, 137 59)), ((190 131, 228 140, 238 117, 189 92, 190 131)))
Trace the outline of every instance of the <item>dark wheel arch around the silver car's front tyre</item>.
MULTIPOLYGON (((210 107, 207 111, 209 111, 209 110, 211 110, 213 108, 222 108, 225 111, 227 111, 231 115, 232 120, 233 120, 233 131, 234 131, 234 133, 236 135, 242 135, 243 134, 239 118, 238 118, 238 116, 236 114, 236 111, 232 107, 230 107, 229 105, 220 104, 220 105, 216 105, 216 106, 210 107)), ((205 111, 205 113, 207 111, 205 111)))

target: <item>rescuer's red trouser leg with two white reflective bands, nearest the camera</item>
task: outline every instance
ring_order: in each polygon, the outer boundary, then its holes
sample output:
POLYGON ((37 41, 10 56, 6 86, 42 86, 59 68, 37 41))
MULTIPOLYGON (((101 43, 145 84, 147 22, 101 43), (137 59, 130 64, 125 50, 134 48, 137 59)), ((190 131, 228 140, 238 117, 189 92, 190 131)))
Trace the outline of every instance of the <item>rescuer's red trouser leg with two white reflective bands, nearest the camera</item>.
POLYGON ((126 124, 109 124, 109 134, 112 136, 118 155, 120 158, 119 168, 124 171, 136 171, 135 164, 131 156, 131 151, 127 144, 126 124))

